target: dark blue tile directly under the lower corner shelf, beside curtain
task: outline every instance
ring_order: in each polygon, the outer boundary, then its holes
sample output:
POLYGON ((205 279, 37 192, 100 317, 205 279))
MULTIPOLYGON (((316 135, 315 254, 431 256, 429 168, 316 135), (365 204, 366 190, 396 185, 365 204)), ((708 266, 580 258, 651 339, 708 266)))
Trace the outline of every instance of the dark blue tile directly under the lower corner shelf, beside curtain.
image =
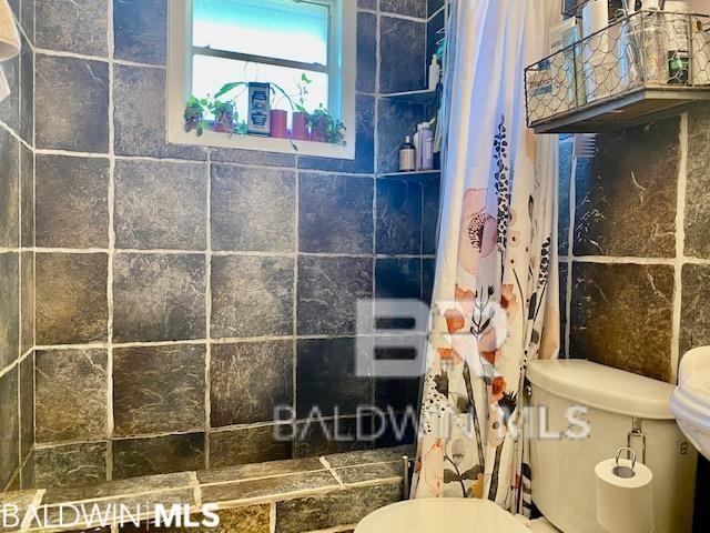
POLYGON ((377 253, 422 252, 422 185, 377 180, 377 253))

